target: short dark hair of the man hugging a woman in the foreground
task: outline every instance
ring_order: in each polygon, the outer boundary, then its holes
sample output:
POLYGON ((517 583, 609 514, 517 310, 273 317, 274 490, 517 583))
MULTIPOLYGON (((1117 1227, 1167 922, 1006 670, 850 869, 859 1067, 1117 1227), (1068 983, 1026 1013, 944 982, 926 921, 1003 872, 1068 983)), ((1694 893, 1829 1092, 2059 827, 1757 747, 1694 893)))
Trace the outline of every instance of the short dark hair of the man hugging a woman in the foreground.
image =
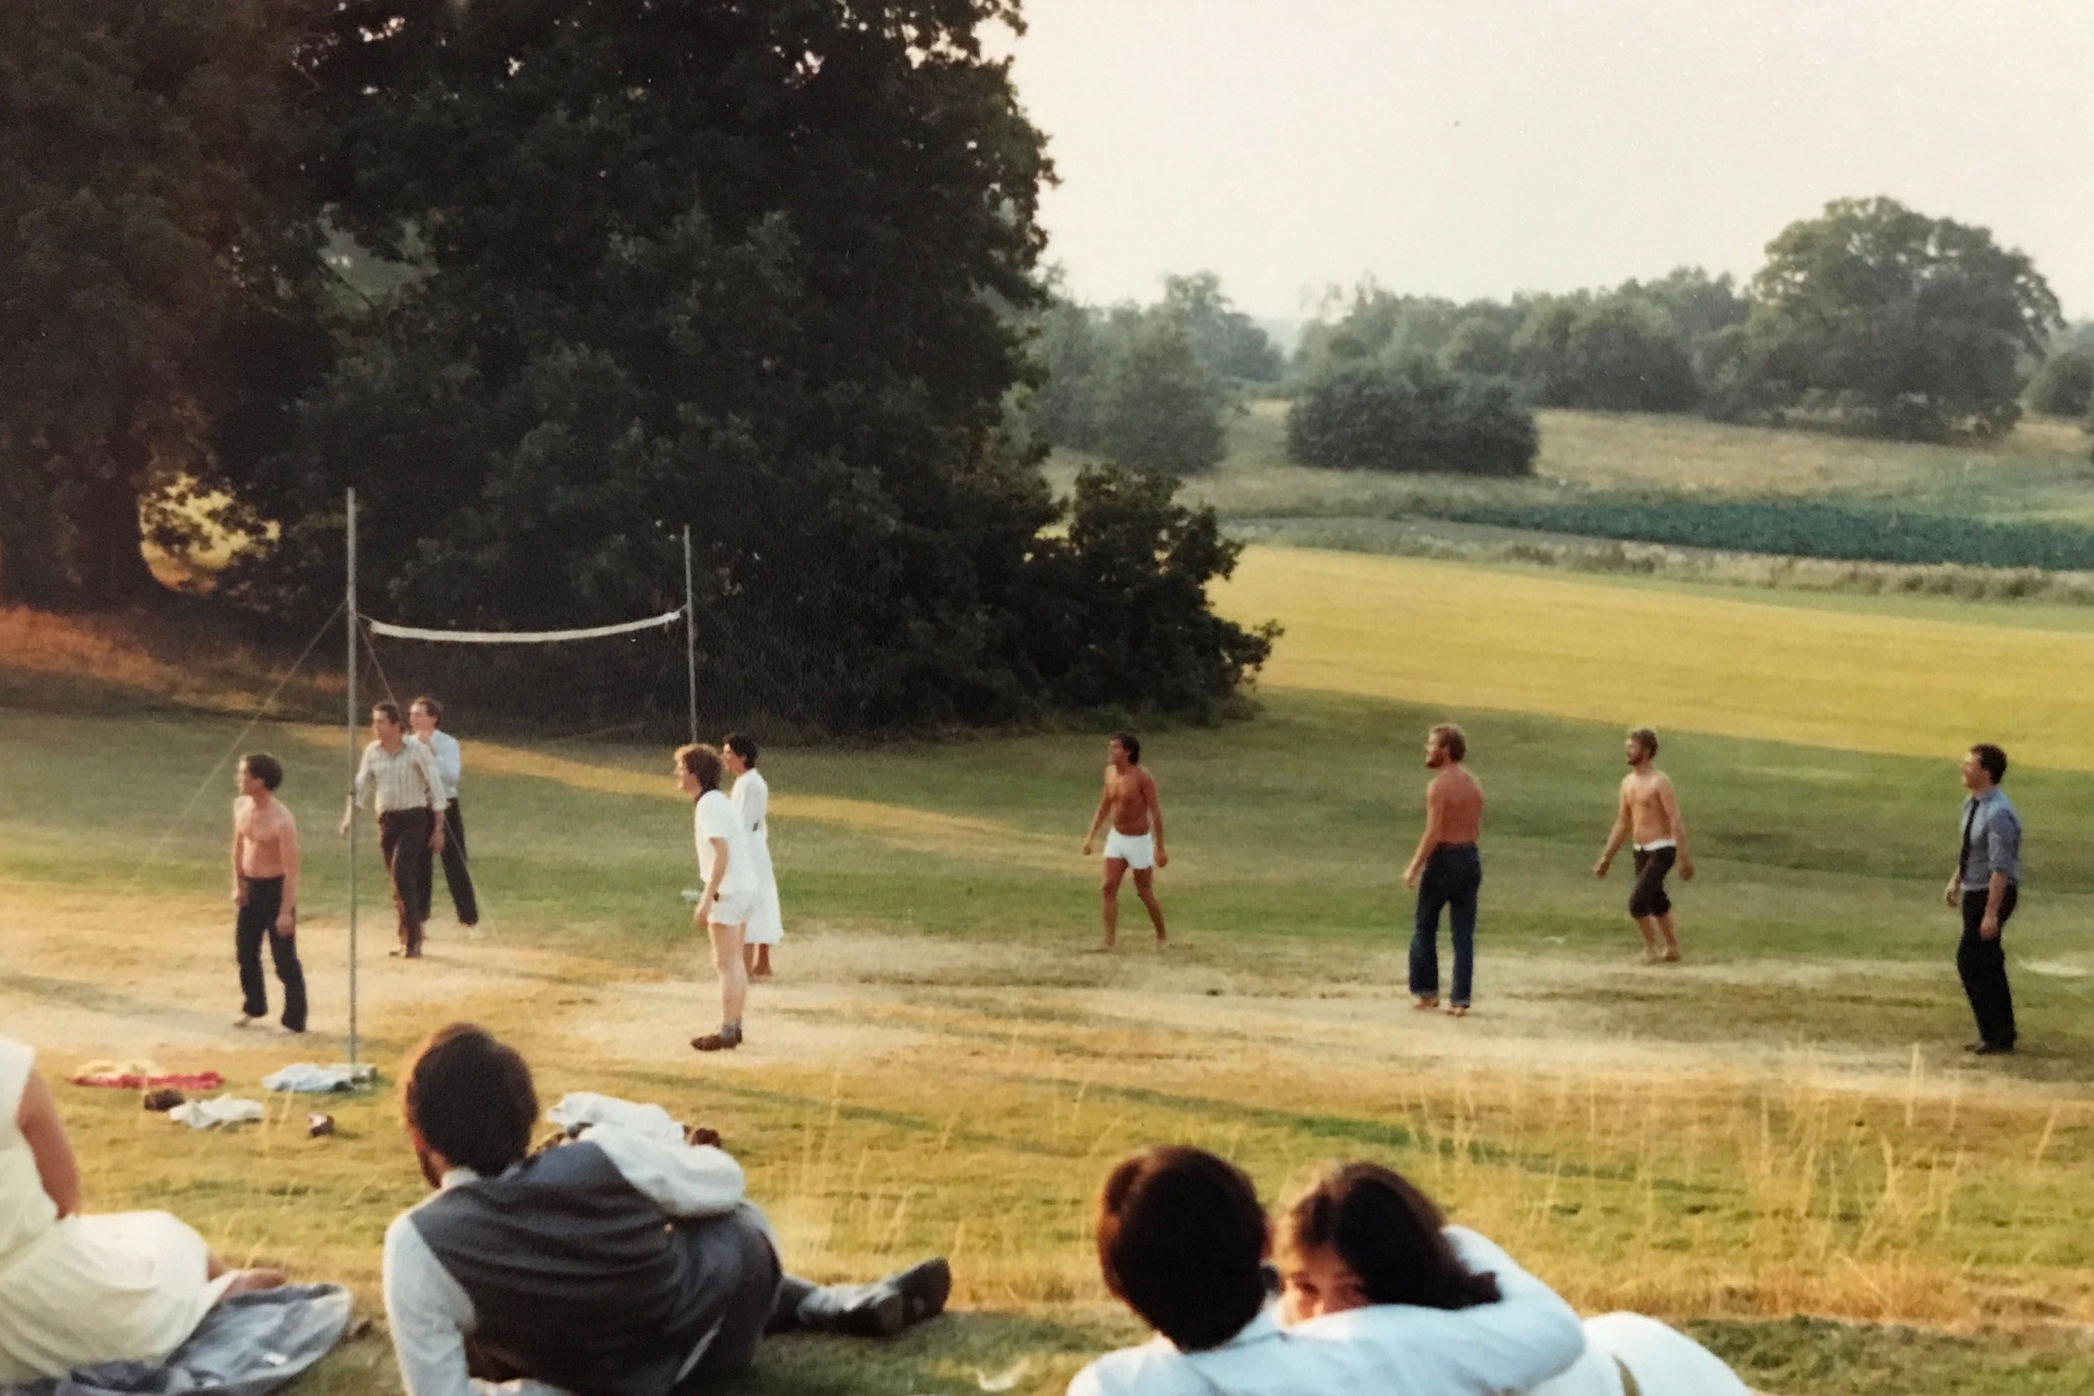
POLYGON ((1097 1191, 1106 1289, 1187 1352, 1235 1337, 1265 1306, 1265 1208, 1204 1149, 1143 1149, 1097 1191))

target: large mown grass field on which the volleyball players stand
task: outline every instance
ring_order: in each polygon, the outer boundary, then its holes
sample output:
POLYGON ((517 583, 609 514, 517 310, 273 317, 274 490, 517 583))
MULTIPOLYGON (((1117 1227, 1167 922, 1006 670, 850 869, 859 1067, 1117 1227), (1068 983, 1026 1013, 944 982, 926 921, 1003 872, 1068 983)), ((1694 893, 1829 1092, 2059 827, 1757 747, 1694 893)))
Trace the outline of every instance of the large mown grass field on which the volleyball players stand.
MULTIPOLYGON (((1150 735, 1168 956, 1139 933, 1081 954, 1095 737, 779 749, 783 977, 756 990, 748 1049, 697 1061, 681 1042, 712 990, 676 900, 689 814, 666 753, 475 743, 465 718, 492 936, 440 919, 431 959, 404 967, 369 910, 366 1055, 480 1017, 549 1099, 599 1088, 718 1126, 796 1268, 955 1256, 953 1319, 873 1352, 779 1342, 758 1392, 1057 1390, 1137 1335, 1101 1296, 1085 1206, 1156 1139, 1221 1149, 1275 1197, 1323 1159, 1386 1159, 1581 1308, 1684 1323, 1767 1390, 2094 1386, 2088 628, 1263 548, 1223 605, 1288 636, 1256 720, 1150 735), (1418 739, 1447 716, 1491 791, 1460 1023, 1403 1007, 1395 877, 1418 739), (1625 883, 1589 877, 1631 720, 1665 733, 1702 869, 1671 971, 1633 963, 1625 883), (2017 758, 2031 892, 2010 929, 2025 1051, 1985 1063, 1956 1051, 1937 906, 1952 762, 1979 733, 2017 758)), ((80 689, 36 703, 44 678, 0 710, 4 1030, 52 1074, 153 1057, 253 1093, 287 1059, 224 1026, 214 762, 260 743, 287 758, 312 850, 322 1040, 297 1055, 337 1055, 339 730, 237 743, 228 718, 92 712, 80 689)), ((379 1237, 421 1191, 387 1095, 333 1105, 333 1139, 306 1139, 304 1101, 232 1136, 119 1093, 61 1105, 96 1206, 170 1206, 377 1312, 379 1237)), ((304 1390, 398 1388, 366 1337, 304 1390)))

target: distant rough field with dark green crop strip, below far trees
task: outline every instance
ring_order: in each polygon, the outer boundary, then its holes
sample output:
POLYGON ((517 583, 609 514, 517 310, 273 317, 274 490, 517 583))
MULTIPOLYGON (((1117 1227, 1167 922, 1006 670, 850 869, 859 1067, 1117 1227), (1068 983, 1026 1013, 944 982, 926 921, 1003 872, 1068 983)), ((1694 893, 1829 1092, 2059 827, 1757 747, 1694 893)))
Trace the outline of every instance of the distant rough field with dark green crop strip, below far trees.
MULTIPOLYGON (((1242 538, 1755 588, 2094 603, 2094 571, 2079 561, 2094 546, 2084 532, 2094 465, 2077 423, 2031 419, 2000 442, 1929 446, 1543 410, 1535 475, 1503 481, 1296 467, 1286 410, 1246 404, 1227 458, 1185 483, 1187 500, 1212 504, 1242 538), (1822 517, 1805 530, 1801 515, 1744 509, 1767 500, 1822 517), (1807 544, 1782 546, 1799 532, 1807 544), (2010 567, 2019 561, 2046 569, 2010 567), (2081 569, 2056 571, 2065 565, 2081 569)), ((1078 465, 1062 452, 1049 475, 1066 481, 1078 465)))

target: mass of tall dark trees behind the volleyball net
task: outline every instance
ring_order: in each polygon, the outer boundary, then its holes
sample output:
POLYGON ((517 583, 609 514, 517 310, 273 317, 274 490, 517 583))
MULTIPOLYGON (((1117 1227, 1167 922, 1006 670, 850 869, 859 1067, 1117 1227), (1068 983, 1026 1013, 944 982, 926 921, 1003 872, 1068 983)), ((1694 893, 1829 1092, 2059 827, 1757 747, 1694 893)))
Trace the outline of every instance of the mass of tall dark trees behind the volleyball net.
MULTIPOLYGON (((836 730, 1210 714, 1271 632, 1168 481, 1018 440, 1053 178, 1016 0, 0 6, 0 599, 318 624, 683 594, 706 689, 836 730), (727 653, 735 663, 720 663, 727 653)), ((557 691, 557 678, 544 684, 557 691)))

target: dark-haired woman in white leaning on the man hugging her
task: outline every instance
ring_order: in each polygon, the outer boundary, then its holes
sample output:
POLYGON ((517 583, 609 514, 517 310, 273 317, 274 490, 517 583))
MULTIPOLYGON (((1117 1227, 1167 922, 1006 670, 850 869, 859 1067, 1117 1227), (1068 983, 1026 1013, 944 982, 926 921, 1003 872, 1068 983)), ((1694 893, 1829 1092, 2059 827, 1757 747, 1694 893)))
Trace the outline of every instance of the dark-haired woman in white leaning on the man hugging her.
MULTIPOLYGON (((1279 1220, 1282 1310, 1290 1323, 1369 1304, 1466 1310, 1497 1285, 1457 1256, 1439 1208, 1380 1164, 1323 1174, 1279 1220)), ((1529 1396, 1751 1396, 1751 1390, 1686 1333, 1644 1314, 1587 1319, 1585 1352, 1529 1396)))

